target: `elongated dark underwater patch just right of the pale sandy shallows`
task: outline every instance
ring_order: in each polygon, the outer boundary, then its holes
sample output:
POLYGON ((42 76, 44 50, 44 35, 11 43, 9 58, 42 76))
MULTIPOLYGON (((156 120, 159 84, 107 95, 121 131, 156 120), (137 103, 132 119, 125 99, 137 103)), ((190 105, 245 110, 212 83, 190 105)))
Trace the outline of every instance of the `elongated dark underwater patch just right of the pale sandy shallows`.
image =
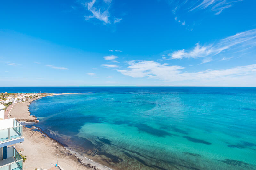
POLYGON ((152 128, 146 124, 136 124, 135 127, 138 128, 139 131, 144 131, 148 134, 159 136, 159 137, 164 137, 164 136, 172 136, 173 134, 168 133, 167 131, 160 130, 160 129, 155 129, 152 128))

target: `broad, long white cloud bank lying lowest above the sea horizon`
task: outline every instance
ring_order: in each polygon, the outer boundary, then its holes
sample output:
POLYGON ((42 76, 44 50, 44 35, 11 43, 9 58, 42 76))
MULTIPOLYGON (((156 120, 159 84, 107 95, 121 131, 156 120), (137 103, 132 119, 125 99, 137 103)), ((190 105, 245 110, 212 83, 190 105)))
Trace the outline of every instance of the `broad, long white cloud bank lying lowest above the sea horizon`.
MULTIPOLYGON (((207 82, 207 83, 223 83, 239 80, 250 80, 250 83, 256 85, 256 64, 232 67, 229 69, 204 70, 200 72, 185 72, 185 67, 170 66, 168 64, 160 64, 155 61, 129 61, 127 69, 117 70, 118 72, 134 78, 154 78, 164 80, 166 82, 207 82), (254 81, 251 78, 254 77, 254 81)), ((237 84, 237 83, 236 83, 237 84)), ((232 86, 236 85, 233 84, 232 86)), ((203 84, 202 84, 203 85, 203 84)))

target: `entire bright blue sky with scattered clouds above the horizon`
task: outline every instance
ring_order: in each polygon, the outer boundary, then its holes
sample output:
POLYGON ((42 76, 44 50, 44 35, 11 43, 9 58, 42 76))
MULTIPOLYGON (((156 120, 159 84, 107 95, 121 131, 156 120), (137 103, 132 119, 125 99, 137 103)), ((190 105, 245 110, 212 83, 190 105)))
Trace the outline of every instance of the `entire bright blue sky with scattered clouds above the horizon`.
POLYGON ((2 1, 0 86, 256 86, 256 1, 2 1))

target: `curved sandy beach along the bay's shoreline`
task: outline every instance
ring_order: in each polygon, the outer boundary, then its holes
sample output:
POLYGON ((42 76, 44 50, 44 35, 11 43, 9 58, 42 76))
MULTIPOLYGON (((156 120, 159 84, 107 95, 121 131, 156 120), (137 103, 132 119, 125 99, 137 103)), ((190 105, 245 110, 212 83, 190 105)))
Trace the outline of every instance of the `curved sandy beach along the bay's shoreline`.
MULTIPOLYGON (((36 116, 30 115, 28 108, 30 103, 38 98, 12 104, 6 110, 6 115, 10 112, 9 116, 11 118, 15 117, 21 122, 38 122, 36 116)), ((23 126, 23 136, 25 141, 21 144, 15 144, 15 146, 18 151, 21 151, 22 155, 27 156, 27 160, 23 163, 24 170, 34 170, 35 168, 46 170, 52 168, 57 163, 57 154, 59 155, 58 164, 65 170, 108 169, 104 165, 87 160, 86 158, 84 160, 81 159, 83 158, 81 155, 71 153, 63 145, 44 134, 39 128, 23 126)))

